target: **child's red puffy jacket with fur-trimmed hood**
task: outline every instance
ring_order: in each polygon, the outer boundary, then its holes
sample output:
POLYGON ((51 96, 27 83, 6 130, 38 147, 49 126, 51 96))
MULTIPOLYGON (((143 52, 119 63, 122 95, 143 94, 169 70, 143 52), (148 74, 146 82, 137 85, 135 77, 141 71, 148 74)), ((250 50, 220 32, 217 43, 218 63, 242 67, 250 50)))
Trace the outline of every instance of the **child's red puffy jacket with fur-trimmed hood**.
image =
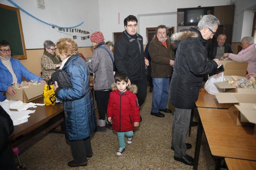
POLYGON ((126 92, 121 94, 116 84, 111 85, 112 92, 108 100, 107 117, 112 117, 112 129, 118 132, 134 130, 134 122, 140 122, 140 106, 138 104, 137 86, 130 85, 126 92))

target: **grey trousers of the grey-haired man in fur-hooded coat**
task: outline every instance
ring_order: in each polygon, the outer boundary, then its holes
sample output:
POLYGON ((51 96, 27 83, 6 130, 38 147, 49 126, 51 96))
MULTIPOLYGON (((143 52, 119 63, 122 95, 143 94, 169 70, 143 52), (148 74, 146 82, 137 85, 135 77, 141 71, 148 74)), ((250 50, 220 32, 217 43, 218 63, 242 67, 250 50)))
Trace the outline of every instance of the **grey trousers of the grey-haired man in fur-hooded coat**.
POLYGON ((187 146, 186 134, 189 128, 191 109, 175 108, 172 122, 172 147, 174 156, 182 157, 186 155, 187 146))

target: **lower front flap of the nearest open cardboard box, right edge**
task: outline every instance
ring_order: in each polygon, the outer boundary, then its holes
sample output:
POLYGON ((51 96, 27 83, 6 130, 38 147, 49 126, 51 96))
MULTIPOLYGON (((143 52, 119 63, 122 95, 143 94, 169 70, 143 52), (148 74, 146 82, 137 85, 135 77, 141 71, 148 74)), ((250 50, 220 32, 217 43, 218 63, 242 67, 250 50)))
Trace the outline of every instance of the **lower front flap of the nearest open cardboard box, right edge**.
POLYGON ((250 109, 250 108, 246 108, 246 107, 238 106, 238 105, 235 105, 235 107, 241 112, 241 122, 246 121, 246 120, 242 120, 242 117, 244 116, 245 119, 247 119, 247 121, 256 124, 256 110, 255 109, 250 109))

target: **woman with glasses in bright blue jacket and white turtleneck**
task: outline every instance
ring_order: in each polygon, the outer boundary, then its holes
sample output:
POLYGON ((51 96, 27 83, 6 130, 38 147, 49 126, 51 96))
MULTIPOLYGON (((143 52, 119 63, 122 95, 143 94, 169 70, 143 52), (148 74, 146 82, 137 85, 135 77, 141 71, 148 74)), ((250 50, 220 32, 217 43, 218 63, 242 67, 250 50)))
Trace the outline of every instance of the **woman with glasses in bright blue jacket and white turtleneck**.
POLYGON ((28 80, 36 79, 38 82, 46 84, 42 78, 28 71, 18 59, 12 58, 11 53, 10 44, 5 40, 0 40, 0 101, 6 99, 3 92, 15 96, 16 91, 12 86, 20 84, 22 77, 28 80))

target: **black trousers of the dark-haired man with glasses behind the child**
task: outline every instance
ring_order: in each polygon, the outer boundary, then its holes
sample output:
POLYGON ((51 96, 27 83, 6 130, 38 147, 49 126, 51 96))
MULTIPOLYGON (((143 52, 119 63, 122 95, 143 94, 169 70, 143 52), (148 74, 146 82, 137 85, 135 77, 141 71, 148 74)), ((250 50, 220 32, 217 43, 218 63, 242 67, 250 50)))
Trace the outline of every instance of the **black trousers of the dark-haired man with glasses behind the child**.
POLYGON ((144 78, 143 80, 137 80, 137 81, 131 81, 131 84, 137 85, 138 87, 138 93, 137 98, 138 98, 138 102, 139 105, 141 107, 141 105, 144 103, 146 97, 147 97, 147 78, 144 78))

